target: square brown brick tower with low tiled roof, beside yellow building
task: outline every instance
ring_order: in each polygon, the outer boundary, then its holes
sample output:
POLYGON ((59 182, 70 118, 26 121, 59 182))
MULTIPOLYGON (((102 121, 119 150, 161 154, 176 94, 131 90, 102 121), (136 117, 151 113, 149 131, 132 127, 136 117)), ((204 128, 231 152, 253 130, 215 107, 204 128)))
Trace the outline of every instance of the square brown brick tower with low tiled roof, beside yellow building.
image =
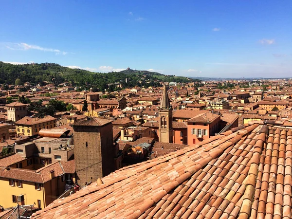
POLYGON ((115 170, 115 147, 110 120, 87 117, 73 124, 77 182, 95 182, 115 170))

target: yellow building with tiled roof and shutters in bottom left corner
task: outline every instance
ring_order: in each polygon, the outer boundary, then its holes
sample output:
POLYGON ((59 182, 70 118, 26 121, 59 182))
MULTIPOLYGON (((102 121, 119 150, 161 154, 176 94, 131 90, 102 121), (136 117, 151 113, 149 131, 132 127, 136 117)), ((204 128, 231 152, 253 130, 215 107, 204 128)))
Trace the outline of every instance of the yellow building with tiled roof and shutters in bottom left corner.
POLYGON ((0 205, 48 206, 65 191, 68 180, 75 182, 74 167, 68 168, 71 164, 66 163, 56 162, 38 170, 0 167, 0 205))

